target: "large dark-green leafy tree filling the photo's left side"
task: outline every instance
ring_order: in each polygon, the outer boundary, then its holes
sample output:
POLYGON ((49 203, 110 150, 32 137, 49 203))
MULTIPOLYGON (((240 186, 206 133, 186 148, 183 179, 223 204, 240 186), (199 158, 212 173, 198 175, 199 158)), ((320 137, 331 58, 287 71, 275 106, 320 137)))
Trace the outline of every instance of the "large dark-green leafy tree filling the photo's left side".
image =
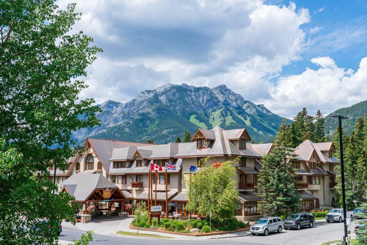
MULTIPOLYGON (((1 169, 0 244, 53 244, 61 219, 73 217, 69 194, 52 194, 47 167, 65 169, 71 132, 99 121, 93 99, 79 100, 87 86, 80 76, 100 48, 82 32, 69 34, 79 13, 55 0, 0 2, 0 138, 2 152, 21 158, 1 169), (44 176, 37 180, 34 174, 44 176), (32 229, 49 219, 51 232, 32 229)), ((48 230, 48 229, 47 229, 48 230)))

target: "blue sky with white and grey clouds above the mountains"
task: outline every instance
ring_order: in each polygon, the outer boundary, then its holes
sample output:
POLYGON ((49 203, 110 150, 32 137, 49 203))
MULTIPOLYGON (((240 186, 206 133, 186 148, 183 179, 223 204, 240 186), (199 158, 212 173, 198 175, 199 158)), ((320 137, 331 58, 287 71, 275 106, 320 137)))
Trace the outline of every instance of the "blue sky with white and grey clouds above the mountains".
POLYGON ((82 15, 72 32, 103 49, 80 78, 89 85, 81 99, 225 84, 287 118, 367 100, 365 0, 73 1, 82 15))

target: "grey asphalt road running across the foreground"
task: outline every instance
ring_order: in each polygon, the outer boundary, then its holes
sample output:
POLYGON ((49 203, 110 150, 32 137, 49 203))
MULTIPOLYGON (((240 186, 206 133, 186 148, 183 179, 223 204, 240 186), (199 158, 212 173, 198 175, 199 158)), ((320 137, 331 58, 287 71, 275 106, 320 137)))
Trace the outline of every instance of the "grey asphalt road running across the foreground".
MULTIPOLYGON (((159 243, 160 245, 177 244, 177 245, 211 245, 211 244, 254 244, 254 245, 317 245, 323 242, 341 239, 343 235, 343 223, 317 223, 313 228, 302 228, 301 230, 283 230, 281 234, 270 233, 268 236, 256 235, 235 238, 221 238, 221 239, 198 239, 198 240, 177 240, 177 239, 145 239, 145 238, 127 238, 113 235, 94 234, 91 245, 121 245, 121 244, 135 244, 147 245, 148 243, 159 243)), ((355 237, 353 233, 356 224, 349 227, 352 238, 355 237)), ((96 231, 98 232, 98 231, 96 231)), ((74 237, 80 238, 81 234, 85 233, 79 229, 65 227, 60 240, 71 241, 74 237)), ((163 234, 169 236, 169 234, 163 234)))

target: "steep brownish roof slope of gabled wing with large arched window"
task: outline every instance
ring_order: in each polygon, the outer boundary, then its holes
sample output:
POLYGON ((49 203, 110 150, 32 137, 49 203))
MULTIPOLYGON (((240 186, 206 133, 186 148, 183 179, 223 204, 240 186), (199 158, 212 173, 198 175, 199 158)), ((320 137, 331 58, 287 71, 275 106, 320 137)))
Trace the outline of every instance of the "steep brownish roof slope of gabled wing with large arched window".
POLYGON ((119 140, 104 140, 104 139, 97 139, 97 138, 88 138, 88 141, 90 142, 91 146, 97 153, 102 164, 105 165, 106 169, 109 169, 111 165, 111 163, 108 160, 111 158, 114 148, 126 148, 128 146, 137 147, 137 146, 155 145, 155 144, 148 144, 148 143, 119 141, 119 140))

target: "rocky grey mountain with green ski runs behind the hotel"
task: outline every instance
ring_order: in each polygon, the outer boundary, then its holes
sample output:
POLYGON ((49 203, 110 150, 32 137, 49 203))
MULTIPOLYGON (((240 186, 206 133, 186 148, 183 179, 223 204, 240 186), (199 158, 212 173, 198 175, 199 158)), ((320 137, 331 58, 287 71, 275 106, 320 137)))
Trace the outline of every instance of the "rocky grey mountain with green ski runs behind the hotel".
POLYGON ((166 84, 155 90, 145 90, 133 100, 121 103, 108 100, 97 105, 103 112, 97 117, 101 126, 78 130, 73 134, 81 143, 86 136, 115 140, 163 144, 185 131, 198 128, 246 128, 252 140, 270 142, 275 138, 283 118, 264 105, 244 100, 225 85, 195 87, 187 84, 166 84))

